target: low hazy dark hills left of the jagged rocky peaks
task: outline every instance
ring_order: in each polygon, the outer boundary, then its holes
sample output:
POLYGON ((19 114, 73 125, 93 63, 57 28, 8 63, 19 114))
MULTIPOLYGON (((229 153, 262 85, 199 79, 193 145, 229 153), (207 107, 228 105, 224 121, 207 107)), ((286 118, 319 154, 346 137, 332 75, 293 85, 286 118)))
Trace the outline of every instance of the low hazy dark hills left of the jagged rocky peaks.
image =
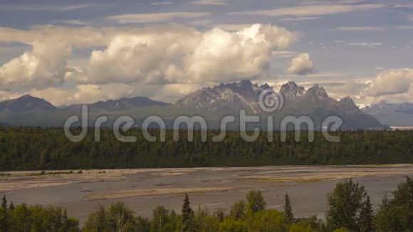
MULTIPOLYGON (((170 104, 151 100, 147 97, 132 97, 86 105, 89 107, 90 121, 93 121, 100 115, 116 117, 118 114, 124 114, 143 118, 147 114, 162 111, 161 109, 170 104)), ((61 127, 68 117, 79 115, 80 110, 80 104, 58 108, 44 99, 24 95, 13 100, 0 102, 0 122, 7 125, 61 127)))

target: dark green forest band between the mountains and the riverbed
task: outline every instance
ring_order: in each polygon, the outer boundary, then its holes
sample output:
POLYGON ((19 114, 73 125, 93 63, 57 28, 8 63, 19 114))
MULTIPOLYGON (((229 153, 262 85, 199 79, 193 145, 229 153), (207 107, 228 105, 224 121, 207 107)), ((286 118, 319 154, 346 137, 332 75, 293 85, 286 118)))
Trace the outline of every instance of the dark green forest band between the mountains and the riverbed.
MULTIPOLYGON (((80 128, 72 128, 74 135, 80 128)), ((219 131, 208 131, 207 141, 194 131, 194 140, 187 141, 187 131, 179 133, 174 142, 167 130, 166 141, 160 142, 159 130, 150 130, 158 137, 149 142, 135 128, 125 135, 137 142, 120 142, 110 128, 103 128, 100 142, 95 142, 93 128, 80 142, 70 142, 59 127, 1 127, 0 170, 33 169, 113 169, 152 167, 242 167, 260 165, 300 164, 392 164, 413 162, 413 132, 408 131, 340 131, 340 142, 328 142, 315 132, 314 142, 301 132, 296 142, 288 132, 281 142, 280 132, 261 132, 255 142, 246 142, 239 132, 227 132, 221 142, 212 137, 219 131)))

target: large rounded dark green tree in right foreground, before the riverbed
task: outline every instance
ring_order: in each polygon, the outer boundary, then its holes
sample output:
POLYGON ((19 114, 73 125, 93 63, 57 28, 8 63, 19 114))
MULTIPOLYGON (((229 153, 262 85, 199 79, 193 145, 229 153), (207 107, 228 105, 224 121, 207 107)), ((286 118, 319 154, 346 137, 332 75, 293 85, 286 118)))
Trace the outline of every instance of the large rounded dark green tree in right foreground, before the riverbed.
POLYGON ((352 179, 338 183, 328 195, 328 211, 325 214, 328 228, 360 228, 360 211, 367 198, 364 186, 352 179))

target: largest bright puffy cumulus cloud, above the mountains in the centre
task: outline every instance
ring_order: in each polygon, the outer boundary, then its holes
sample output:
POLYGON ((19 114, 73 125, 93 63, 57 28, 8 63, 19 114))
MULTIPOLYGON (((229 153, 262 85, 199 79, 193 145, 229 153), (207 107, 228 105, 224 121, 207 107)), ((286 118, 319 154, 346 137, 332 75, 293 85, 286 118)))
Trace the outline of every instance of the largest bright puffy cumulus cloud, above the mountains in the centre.
POLYGON ((117 35, 103 51, 93 51, 88 67, 66 80, 81 84, 207 83, 258 78, 268 74, 271 52, 287 48, 296 34, 254 24, 241 31, 213 28, 117 35))

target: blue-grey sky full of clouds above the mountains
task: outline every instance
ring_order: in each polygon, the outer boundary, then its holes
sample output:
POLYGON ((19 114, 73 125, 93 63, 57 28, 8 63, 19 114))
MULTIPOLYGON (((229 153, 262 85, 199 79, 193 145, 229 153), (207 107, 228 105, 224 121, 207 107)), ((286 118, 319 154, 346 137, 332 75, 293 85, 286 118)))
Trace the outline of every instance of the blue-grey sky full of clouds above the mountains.
POLYGON ((413 102, 413 2, 0 0, 0 100, 175 102, 239 80, 413 102))

